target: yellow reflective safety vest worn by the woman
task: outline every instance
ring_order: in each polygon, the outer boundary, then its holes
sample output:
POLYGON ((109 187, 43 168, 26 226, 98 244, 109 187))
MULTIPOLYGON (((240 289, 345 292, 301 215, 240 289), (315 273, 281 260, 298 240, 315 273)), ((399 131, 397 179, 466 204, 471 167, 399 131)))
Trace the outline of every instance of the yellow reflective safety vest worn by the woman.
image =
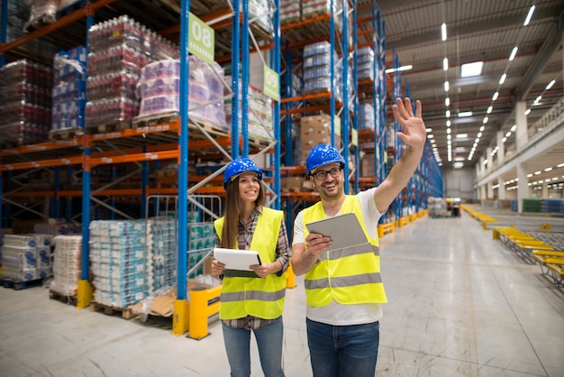
MULTIPOLYGON (((276 261, 278 234, 284 213, 276 209, 262 208, 259 221, 252 235, 250 250, 259 252, 260 261, 276 261)), ((214 221, 215 231, 222 236, 223 220, 214 221)), ((239 249, 233 245, 233 249, 239 249)), ((236 319, 248 315, 263 319, 275 319, 282 315, 286 295, 286 272, 281 276, 274 273, 266 278, 223 278, 220 297, 220 319, 236 319)))

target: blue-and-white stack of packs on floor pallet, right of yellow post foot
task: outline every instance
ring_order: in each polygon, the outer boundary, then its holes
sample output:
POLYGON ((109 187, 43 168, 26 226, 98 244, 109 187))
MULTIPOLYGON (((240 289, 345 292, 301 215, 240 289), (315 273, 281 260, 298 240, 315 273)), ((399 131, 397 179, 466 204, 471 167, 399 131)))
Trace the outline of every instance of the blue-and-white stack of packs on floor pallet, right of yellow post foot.
POLYGON ((90 265, 94 300, 127 308, 150 294, 152 261, 145 220, 97 220, 90 223, 90 265))

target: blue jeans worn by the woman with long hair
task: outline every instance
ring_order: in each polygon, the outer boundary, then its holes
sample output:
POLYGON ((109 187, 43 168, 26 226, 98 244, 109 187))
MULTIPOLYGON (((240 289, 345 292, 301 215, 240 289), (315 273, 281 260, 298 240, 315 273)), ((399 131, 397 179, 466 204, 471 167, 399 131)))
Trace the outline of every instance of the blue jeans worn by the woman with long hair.
MULTIPOLYGON (((246 328, 223 327, 223 342, 232 377, 250 376, 250 331, 246 328)), ((260 366, 265 377, 284 377, 282 370, 282 316, 271 324, 252 330, 259 346, 260 366)))

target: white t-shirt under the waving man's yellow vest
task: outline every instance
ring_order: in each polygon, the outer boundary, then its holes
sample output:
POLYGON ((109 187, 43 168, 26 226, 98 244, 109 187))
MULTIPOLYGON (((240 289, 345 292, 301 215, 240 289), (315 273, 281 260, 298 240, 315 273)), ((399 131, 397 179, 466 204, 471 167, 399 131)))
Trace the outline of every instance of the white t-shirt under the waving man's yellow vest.
MULTIPOLYGON (((382 214, 374 203, 374 190, 360 191, 360 207, 364 216, 364 224, 371 238, 378 237, 378 220, 382 214)), ((341 210, 337 213, 341 215, 341 210)), ((325 216, 330 217, 330 216, 325 216)), ((292 244, 305 244, 304 238, 304 213, 300 211, 294 220, 294 237, 292 244)), ((342 305, 333 300, 331 304, 324 307, 307 306, 305 316, 315 322, 321 322, 333 326, 360 325, 376 322, 382 317, 380 304, 355 304, 342 305)))

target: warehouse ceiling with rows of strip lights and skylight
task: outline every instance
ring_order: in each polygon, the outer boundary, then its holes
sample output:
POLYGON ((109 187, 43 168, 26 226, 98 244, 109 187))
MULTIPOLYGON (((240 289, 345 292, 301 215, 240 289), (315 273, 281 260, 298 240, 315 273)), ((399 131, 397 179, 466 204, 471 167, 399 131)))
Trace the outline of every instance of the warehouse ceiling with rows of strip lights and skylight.
MULTIPOLYGON (((367 5, 371 1, 359 3, 359 19, 369 17, 367 5)), ((423 120, 432 129, 429 137, 444 167, 455 162, 474 166, 487 147, 494 150, 496 132, 509 133, 515 124, 517 101, 524 101, 525 108, 531 109, 527 115, 531 126, 563 97, 561 0, 380 0, 378 5, 386 23, 387 68, 392 68, 393 51, 401 66, 413 66, 401 77, 410 97, 423 104, 423 120), (525 26, 532 5, 532 17, 525 26), (446 25, 446 41, 442 41, 442 23, 446 25), (515 47, 514 59, 510 60, 515 47), (483 62, 480 75, 463 78, 461 67, 478 61, 483 62), (505 81, 500 83, 503 75, 505 81), (555 83, 547 89, 552 80, 555 83), (445 81, 449 82, 448 92, 445 81), (450 106, 445 104, 447 97, 450 106), (459 117, 464 112, 472 115, 459 117), (478 134, 482 126, 484 130, 478 134)), ((507 136, 505 152, 514 149, 514 143, 512 132, 507 136)), ((560 144, 539 161, 531 161, 535 166, 531 169, 564 162, 564 143, 560 144)))

